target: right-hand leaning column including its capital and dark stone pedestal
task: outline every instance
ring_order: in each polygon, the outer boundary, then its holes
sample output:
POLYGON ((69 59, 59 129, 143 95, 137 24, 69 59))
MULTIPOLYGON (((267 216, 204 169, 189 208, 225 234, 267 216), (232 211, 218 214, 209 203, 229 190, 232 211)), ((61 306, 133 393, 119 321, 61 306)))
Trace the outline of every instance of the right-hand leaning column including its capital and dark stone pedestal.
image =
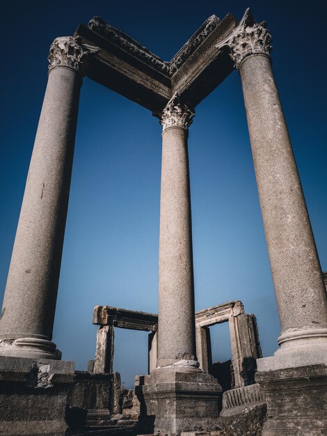
POLYGON ((257 359, 262 435, 327 431, 327 297, 308 210, 278 96, 265 23, 249 10, 228 42, 241 76, 264 231, 282 332, 257 359))

